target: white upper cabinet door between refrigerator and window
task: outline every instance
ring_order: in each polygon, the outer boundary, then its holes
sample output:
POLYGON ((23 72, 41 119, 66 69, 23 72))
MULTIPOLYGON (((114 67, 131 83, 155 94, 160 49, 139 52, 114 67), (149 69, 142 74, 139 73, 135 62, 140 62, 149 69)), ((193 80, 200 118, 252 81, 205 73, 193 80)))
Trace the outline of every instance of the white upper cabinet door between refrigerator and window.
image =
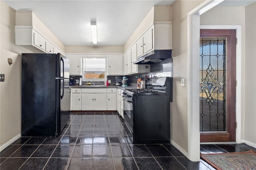
POLYGON ((81 56, 66 55, 69 59, 69 74, 70 75, 82 75, 81 71, 81 56))

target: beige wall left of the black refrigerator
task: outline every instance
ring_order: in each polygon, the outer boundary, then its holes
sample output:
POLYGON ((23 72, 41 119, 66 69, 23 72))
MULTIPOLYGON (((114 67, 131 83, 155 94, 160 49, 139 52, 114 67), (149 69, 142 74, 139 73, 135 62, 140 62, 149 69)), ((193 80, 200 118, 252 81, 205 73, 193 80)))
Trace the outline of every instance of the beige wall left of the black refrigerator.
POLYGON ((21 133, 21 53, 32 53, 15 45, 15 10, 1 4, 1 51, 0 73, 5 81, 0 82, 0 150, 16 140, 21 133), (9 65, 8 58, 13 64, 9 65))

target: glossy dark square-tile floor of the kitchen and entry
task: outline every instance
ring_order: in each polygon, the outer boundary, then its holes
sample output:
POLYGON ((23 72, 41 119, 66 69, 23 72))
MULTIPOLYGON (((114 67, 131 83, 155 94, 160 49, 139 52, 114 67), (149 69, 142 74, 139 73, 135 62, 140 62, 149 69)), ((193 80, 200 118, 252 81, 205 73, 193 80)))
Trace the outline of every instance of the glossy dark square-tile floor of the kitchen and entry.
MULTIPOLYGON (((202 144, 203 153, 240 152, 245 144, 202 144)), ((118 113, 70 113, 57 137, 21 137, 0 153, 1 170, 212 170, 171 144, 131 144, 118 113)))

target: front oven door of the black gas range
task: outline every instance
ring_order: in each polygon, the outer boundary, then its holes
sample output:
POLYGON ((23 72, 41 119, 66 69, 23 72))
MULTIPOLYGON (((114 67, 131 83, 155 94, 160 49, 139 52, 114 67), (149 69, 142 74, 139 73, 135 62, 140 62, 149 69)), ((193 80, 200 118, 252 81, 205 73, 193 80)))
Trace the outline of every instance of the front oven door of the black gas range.
POLYGON ((133 140, 133 104, 132 100, 124 98, 124 124, 126 131, 128 132, 130 138, 133 140))

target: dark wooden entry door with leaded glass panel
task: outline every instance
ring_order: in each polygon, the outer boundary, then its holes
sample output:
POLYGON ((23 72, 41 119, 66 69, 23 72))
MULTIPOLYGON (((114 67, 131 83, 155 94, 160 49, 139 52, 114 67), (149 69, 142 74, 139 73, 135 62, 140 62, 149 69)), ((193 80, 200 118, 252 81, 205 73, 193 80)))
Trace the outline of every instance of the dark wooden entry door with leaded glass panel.
POLYGON ((200 30, 200 142, 236 141, 236 30, 200 30))

